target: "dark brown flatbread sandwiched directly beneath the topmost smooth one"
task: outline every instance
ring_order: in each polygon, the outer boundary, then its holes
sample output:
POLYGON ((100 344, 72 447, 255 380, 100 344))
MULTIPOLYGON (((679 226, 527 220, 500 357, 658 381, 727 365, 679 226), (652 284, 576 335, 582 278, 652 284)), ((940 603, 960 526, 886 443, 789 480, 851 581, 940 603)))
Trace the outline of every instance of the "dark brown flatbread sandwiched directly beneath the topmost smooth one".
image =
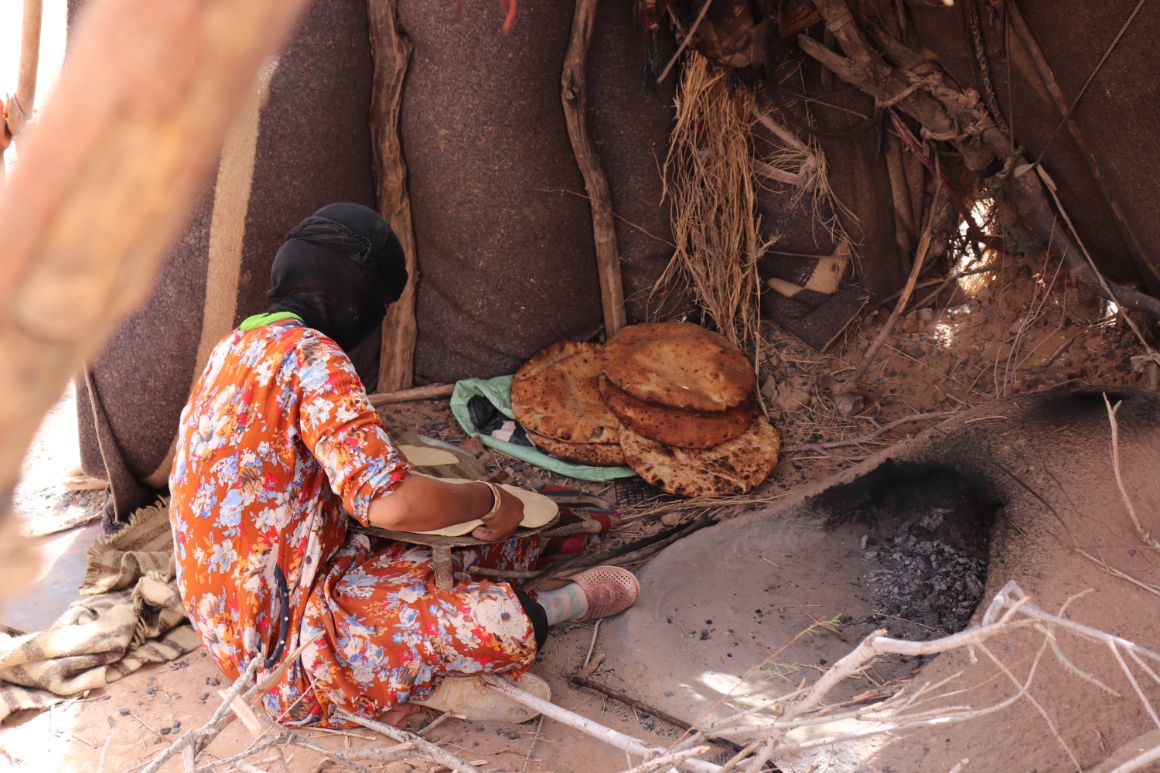
POLYGON ((600 380, 600 393, 622 426, 674 448, 720 446, 745 432, 753 419, 751 403, 724 411, 674 409, 638 400, 604 376, 600 380))

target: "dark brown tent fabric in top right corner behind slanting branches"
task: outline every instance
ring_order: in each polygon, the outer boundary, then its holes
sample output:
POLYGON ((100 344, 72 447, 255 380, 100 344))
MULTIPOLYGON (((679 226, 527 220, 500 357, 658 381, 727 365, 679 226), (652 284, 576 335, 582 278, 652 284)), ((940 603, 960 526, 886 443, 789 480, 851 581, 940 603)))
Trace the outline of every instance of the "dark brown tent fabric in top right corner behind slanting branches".
MULTIPOLYGON (((1046 149, 1043 166, 1058 185, 1059 197, 1101 270, 1118 281, 1143 281, 1151 292, 1160 292, 1160 251, 1155 248, 1160 244, 1155 195, 1160 143, 1153 115, 1160 103, 1155 56, 1160 13, 1145 8, 1136 17, 1074 114, 1112 196, 1147 253, 1147 263, 1137 265, 1083 156, 1066 128, 1056 130, 1059 113, 1038 85, 1030 59, 1015 56, 1007 63, 1003 20, 987 3, 978 5, 995 94, 1028 159, 1037 159, 1046 149)), ((1136 5, 1136 0, 1020 0, 1018 8, 1068 102, 1079 94, 1136 5)), ((922 44, 960 84, 983 93, 960 9, 914 6, 911 13, 922 44)), ((1013 32, 1010 46, 1017 45, 1013 32)))

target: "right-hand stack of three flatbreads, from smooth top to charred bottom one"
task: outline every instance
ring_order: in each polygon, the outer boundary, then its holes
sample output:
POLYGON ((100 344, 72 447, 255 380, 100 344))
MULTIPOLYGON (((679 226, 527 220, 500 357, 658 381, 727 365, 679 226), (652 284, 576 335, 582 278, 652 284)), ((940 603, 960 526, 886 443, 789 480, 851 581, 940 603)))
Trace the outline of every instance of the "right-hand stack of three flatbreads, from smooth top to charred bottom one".
POLYGON ((604 347, 604 403, 637 475, 683 497, 747 493, 777 463, 777 431, 756 410, 753 366, 689 323, 625 327, 604 347))

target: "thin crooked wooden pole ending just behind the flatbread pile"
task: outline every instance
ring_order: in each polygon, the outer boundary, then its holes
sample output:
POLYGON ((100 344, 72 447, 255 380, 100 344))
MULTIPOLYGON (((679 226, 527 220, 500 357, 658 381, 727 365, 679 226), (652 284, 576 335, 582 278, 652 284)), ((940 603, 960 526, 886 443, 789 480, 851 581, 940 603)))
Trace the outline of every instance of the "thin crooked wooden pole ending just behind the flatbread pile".
POLYGON ((621 254, 612 221, 612 194, 600 165, 600 156, 588 131, 588 77, 586 73, 597 0, 575 0, 572 37, 560 75, 560 101, 568 127, 572 153, 588 192, 592 209, 592 236, 596 246, 600 302, 604 311, 604 334, 611 338, 628 322, 624 313, 624 284, 621 281, 621 254))

